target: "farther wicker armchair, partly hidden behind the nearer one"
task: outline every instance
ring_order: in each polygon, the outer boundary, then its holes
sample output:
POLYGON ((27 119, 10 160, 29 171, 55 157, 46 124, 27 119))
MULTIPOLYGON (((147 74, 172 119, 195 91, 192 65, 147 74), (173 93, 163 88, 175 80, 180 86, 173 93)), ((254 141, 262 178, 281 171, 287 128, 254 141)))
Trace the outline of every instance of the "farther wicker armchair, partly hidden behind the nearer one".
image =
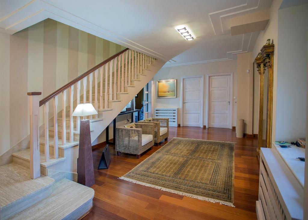
POLYGON ((152 118, 153 121, 141 120, 138 123, 154 124, 154 143, 157 146, 161 141, 168 140, 169 136, 169 119, 168 118, 152 118), (167 128, 167 131, 166 131, 167 128))

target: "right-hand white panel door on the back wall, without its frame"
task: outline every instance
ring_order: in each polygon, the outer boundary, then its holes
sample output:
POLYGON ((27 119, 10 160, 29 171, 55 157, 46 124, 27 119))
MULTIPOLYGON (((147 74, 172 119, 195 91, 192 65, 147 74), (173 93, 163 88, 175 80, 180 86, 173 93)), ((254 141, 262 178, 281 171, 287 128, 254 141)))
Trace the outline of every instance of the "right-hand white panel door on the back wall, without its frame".
POLYGON ((209 78, 209 127, 230 127, 230 94, 230 75, 211 76, 209 78))

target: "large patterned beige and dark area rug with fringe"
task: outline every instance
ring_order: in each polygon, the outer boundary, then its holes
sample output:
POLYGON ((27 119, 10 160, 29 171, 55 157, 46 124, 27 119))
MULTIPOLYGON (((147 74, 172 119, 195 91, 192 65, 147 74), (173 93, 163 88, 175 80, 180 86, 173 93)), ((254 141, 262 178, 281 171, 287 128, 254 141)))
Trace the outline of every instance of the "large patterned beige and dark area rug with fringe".
POLYGON ((235 207, 234 143, 173 138, 120 179, 235 207))

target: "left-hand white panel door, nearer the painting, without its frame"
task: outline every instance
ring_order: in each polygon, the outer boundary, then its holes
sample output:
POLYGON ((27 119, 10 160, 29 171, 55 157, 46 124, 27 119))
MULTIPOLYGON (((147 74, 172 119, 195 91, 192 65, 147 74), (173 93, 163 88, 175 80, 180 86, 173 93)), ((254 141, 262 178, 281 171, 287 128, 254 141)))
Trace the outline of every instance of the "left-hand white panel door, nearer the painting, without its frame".
POLYGON ((183 126, 203 126, 202 85, 202 77, 183 79, 183 126))

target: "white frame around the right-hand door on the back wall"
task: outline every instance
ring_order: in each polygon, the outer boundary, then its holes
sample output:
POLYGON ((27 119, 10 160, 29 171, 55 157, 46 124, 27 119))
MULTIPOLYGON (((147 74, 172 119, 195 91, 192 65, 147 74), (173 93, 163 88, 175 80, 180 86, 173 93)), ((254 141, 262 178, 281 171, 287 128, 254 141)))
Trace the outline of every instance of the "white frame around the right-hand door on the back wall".
POLYGON ((232 128, 233 125, 233 72, 229 73, 212 73, 212 74, 206 74, 206 100, 205 100, 205 126, 209 128, 209 93, 210 93, 210 77, 211 76, 223 76, 223 75, 230 75, 231 82, 230 82, 230 124, 229 128, 232 128))

